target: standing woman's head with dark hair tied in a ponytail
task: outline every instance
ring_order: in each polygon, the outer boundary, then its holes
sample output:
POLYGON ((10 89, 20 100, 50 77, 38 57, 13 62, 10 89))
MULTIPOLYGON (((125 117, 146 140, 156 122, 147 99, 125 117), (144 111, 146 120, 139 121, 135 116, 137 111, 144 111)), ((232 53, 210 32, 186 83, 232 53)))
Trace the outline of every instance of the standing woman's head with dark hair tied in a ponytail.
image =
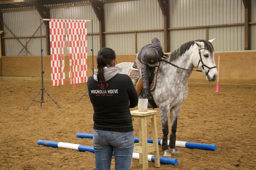
POLYGON ((112 66, 113 60, 115 59, 116 59, 116 53, 111 48, 102 48, 99 50, 98 57, 97 57, 98 82, 105 82, 104 67, 107 67, 107 65, 112 66))

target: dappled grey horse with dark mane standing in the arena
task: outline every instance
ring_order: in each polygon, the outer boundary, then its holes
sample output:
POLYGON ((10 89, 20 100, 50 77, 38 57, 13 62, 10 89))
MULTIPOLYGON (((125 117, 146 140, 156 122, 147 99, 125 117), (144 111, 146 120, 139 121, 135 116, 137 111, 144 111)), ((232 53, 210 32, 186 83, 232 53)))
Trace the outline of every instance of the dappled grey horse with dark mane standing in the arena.
MULTIPOLYGON (((168 58, 160 61, 156 73, 156 85, 151 94, 160 110, 164 157, 180 156, 180 152, 175 147, 177 117, 182 103, 188 96, 188 79, 192 71, 202 72, 209 82, 215 81, 218 77, 212 46, 214 40, 186 42, 173 51, 168 58), (194 68, 198 70, 193 70, 194 68), (169 147, 173 149, 172 155, 168 150, 169 111, 171 119, 169 147)), ((119 68, 120 74, 128 74, 133 64, 132 62, 122 62, 116 66, 119 68)))

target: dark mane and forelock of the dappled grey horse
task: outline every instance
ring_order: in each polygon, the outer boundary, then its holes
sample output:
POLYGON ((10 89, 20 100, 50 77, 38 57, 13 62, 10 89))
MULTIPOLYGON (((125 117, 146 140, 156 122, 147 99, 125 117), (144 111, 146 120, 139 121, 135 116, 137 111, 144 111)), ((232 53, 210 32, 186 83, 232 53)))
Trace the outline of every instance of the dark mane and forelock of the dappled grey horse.
MULTIPOLYGON (((208 42, 206 40, 195 40, 195 41, 204 42, 204 48, 209 50, 210 54, 212 54, 214 52, 214 48, 210 42, 208 42)), ((170 55, 171 59, 175 59, 179 56, 182 56, 187 50, 189 50, 189 48, 192 45, 195 44, 195 41, 189 41, 183 45, 180 45, 180 48, 176 49, 175 51, 172 51, 172 53, 170 55)))

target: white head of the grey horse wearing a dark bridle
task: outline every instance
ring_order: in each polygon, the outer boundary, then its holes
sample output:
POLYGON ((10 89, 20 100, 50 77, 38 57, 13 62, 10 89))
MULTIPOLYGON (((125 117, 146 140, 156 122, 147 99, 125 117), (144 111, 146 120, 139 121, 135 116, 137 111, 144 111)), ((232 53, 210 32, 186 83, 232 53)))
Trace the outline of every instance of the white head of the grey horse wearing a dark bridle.
POLYGON ((215 39, 209 41, 195 41, 195 47, 198 50, 198 55, 194 59, 194 65, 196 68, 202 70, 207 81, 210 82, 215 81, 218 77, 218 71, 214 60, 214 49, 212 46, 212 42, 215 39))

